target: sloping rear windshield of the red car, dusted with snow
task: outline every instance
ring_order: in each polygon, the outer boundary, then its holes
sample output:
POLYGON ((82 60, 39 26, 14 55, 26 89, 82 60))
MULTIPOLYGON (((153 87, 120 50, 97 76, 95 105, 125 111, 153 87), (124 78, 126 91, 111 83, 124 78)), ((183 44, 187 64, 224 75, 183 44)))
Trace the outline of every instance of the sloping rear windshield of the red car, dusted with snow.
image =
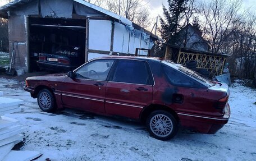
POLYGON ((180 71, 180 72, 184 73, 185 75, 190 76, 194 80, 200 82, 200 84, 203 84, 203 85, 205 85, 207 87, 215 85, 214 82, 208 80, 207 78, 199 75, 199 73, 197 73, 197 72, 195 72, 193 70, 190 70, 189 68, 186 68, 186 67, 184 67, 182 65, 173 63, 171 61, 162 61, 162 63, 164 65, 167 65, 167 66, 170 66, 170 67, 174 68, 177 71, 180 71))

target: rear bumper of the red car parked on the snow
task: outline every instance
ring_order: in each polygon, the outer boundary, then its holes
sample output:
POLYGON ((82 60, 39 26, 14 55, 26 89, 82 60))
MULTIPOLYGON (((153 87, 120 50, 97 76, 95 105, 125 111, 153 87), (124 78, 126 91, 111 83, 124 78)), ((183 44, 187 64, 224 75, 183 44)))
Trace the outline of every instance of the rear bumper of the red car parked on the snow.
POLYGON ((188 113, 177 114, 182 126, 189 128, 190 130, 199 131, 203 134, 215 134, 228 122, 228 119, 230 118, 230 106, 227 103, 225 107, 225 115, 222 117, 199 116, 188 113))

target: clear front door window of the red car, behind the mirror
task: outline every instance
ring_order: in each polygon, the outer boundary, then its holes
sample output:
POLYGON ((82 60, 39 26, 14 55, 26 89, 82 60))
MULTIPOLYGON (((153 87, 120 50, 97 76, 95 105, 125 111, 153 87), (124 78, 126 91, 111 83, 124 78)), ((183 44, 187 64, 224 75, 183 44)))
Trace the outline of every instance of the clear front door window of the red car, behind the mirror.
POLYGON ((75 72, 76 78, 106 80, 113 62, 113 59, 92 61, 75 72))

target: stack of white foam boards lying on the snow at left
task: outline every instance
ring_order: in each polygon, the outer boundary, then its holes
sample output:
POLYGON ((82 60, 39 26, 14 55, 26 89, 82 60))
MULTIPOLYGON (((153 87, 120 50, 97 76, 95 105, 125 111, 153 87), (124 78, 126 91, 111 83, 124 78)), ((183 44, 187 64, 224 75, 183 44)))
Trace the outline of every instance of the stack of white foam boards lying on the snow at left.
MULTIPOLYGON (((0 95, 3 93, 0 92, 0 95)), ((22 103, 23 100, 20 99, 0 97, 0 160, 32 160, 40 156, 36 151, 11 151, 15 144, 23 140, 20 134, 22 127, 16 119, 3 115, 19 112, 19 105, 22 103)))

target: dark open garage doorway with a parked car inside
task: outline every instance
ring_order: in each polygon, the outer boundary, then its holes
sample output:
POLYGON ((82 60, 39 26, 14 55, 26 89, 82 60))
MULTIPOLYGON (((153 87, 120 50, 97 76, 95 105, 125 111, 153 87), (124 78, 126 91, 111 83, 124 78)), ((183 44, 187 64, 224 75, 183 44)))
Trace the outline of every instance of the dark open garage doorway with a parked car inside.
POLYGON ((30 17, 28 34, 29 71, 68 71, 85 63, 86 20, 30 17))

